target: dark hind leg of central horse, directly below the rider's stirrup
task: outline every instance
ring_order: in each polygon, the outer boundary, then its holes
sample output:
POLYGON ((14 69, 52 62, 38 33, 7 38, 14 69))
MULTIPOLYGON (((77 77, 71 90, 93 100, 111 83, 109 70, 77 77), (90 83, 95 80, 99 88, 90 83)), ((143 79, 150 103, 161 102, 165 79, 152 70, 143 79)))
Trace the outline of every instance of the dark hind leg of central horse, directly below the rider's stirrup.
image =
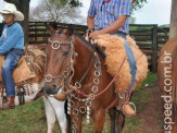
POLYGON ((122 111, 116 111, 116 112, 117 112, 117 117, 116 117, 117 133, 122 133, 125 124, 125 116, 123 114, 122 111))

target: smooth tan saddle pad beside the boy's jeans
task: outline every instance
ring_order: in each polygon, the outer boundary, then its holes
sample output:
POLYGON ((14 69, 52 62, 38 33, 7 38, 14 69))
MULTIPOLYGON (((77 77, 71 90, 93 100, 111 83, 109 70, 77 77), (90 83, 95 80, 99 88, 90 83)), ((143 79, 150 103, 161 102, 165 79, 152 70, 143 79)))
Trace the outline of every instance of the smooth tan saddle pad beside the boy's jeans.
MULTIPOLYGON (((35 71, 33 71, 30 63, 27 63, 26 58, 28 57, 23 56, 17 61, 17 66, 13 72, 13 78, 15 83, 20 83, 36 76, 36 73, 35 71)), ((3 60, 4 60, 4 56, 0 56, 0 86, 2 85, 1 70, 2 70, 3 60)))

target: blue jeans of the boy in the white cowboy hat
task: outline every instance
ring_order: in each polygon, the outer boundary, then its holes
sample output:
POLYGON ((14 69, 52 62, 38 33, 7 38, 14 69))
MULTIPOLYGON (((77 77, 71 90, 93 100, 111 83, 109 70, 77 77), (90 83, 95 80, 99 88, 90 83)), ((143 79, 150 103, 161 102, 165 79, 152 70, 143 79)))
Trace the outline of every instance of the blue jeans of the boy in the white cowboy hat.
POLYGON ((4 55, 2 64, 2 82, 7 90, 7 97, 15 96, 15 83, 13 80, 13 71, 17 65, 18 59, 23 56, 24 50, 13 48, 4 55))

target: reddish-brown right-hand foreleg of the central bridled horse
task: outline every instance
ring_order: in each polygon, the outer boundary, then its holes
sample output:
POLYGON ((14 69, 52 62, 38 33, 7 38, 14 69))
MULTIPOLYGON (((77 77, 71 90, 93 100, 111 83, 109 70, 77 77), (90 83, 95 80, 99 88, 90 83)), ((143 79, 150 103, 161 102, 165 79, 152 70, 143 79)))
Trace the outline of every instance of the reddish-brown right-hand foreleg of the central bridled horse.
POLYGON ((94 119, 96 133, 102 133, 104 121, 105 121, 105 110, 104 109, 98 110, 94 113, 93 119, 94 119))

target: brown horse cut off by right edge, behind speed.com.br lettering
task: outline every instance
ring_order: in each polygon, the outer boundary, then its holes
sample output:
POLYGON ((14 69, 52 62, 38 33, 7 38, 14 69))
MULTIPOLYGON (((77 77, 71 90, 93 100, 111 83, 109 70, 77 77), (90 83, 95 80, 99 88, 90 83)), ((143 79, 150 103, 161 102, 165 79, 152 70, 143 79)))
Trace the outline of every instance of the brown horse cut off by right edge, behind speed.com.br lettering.
POLYGON ((157 75, 164 131, 177 133, 177 37, 169 39, 161 49, 157 75))

